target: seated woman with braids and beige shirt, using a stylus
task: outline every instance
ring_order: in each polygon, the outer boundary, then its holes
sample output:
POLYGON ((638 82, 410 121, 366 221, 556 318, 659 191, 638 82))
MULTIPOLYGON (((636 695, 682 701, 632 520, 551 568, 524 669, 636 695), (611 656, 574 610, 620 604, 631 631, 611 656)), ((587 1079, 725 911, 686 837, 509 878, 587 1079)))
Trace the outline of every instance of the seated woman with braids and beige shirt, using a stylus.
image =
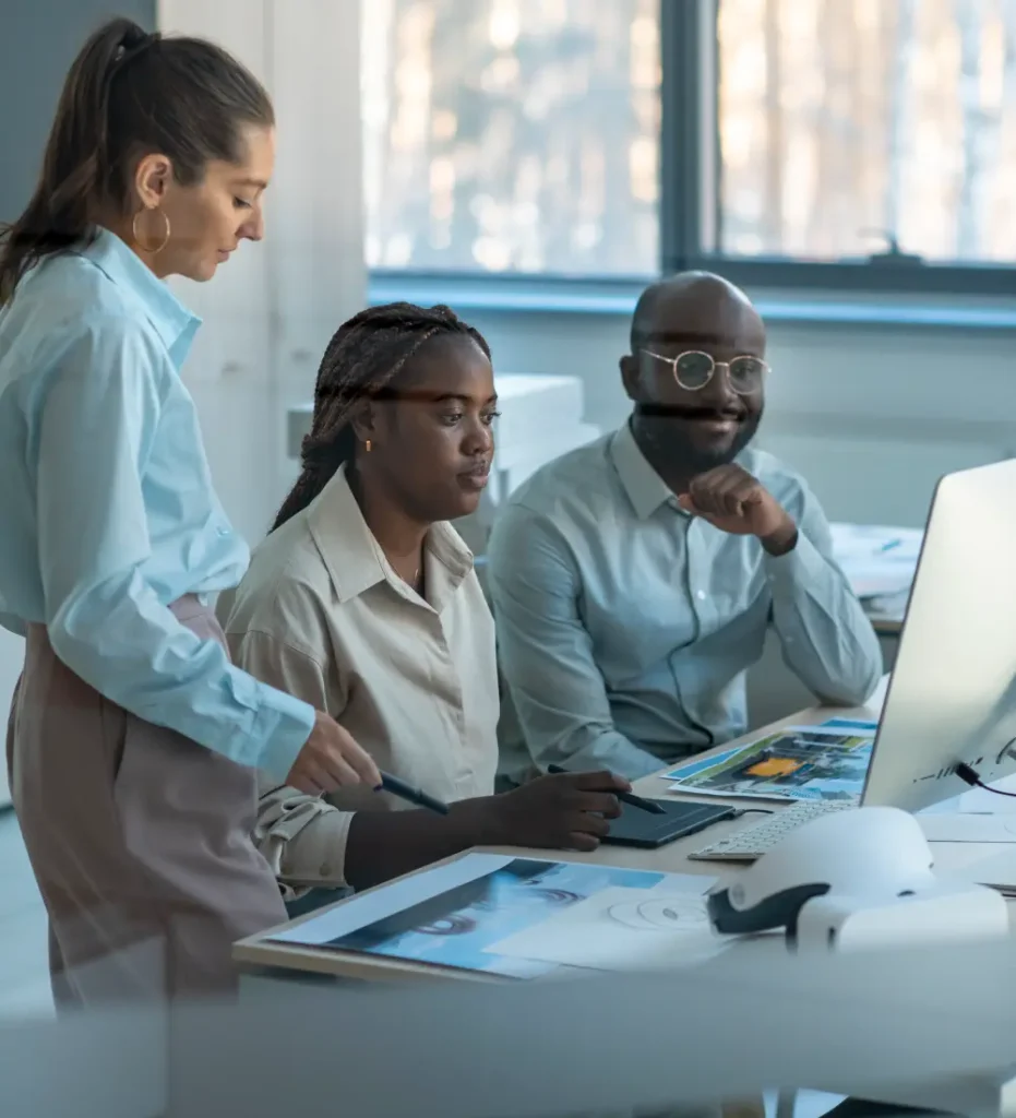
POLYGON ((265 777, 256 841, 291 897, 361 889, 477 844, 592 850, 618 814, 628 785, 609 773, 492 795, 494 625, 448 521, 479 502, 496 404, 486 342, 446 306, 372 307, 325 350, 303 472, 224 604, 227 639, 251 674, 453 806, 443 817, 265 777))

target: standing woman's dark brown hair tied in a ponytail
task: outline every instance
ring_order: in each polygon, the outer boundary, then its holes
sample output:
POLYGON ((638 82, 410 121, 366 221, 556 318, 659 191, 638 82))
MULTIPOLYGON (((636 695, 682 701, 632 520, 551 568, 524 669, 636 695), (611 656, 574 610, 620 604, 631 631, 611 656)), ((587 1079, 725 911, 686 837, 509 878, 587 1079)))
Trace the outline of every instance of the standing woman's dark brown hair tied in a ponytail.
POLYGON ((70 66, 25 212, 0 227, 0 306, 35 264, 87 244, 98 218, 130 212, 132 162, 167 155, 178 182, 237 161, 238 126, 274 123, 260 84, 201 39, 162 39, 113 19, 70 66))

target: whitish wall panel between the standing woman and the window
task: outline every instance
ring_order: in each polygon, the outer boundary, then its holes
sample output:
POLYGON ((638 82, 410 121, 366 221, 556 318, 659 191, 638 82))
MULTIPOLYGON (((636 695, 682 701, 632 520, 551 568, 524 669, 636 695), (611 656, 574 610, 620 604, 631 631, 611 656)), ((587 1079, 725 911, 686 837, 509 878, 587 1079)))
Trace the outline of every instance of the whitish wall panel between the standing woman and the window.
POLYGON ((160 0, 163 31, 201 35, 268 86, 277 115, 267 235, 208 284, 184 369, 216 487, 248 542, 292 481, 285 410, 313 394, 336 326, 365 299, 358 0, 160 0))

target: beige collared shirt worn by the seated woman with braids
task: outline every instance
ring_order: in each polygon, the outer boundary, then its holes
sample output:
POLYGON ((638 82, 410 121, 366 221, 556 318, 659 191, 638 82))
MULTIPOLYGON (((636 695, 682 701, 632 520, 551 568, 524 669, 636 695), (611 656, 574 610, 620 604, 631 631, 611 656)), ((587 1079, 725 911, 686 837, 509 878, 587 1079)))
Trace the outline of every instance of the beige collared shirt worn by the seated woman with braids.
MULTIPOLYGON (((379 768, 445 800, 491 795, 497 766, 494 623, 473 556, 435 524, 426 600, 395 574, 343 471, 254 552, 220 600, 236 663, 332 714, 379 768)), ((260 778, 255 841, 294 889, 345 884, 357 811, 399 811, 371 789, 320 799, 260 778)))

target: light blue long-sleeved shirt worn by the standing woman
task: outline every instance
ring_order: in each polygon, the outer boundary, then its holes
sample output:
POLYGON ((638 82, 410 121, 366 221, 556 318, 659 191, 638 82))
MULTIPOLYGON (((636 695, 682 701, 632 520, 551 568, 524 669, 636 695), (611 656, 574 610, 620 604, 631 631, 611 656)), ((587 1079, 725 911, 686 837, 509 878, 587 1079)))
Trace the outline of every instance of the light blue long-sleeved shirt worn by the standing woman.
POLYGON ((199 320, 118 237, 49 257, 0 310, 0 622, 132 713, 284 777, 314 723, 168 608, 248 551, 180 379, 199 320))

